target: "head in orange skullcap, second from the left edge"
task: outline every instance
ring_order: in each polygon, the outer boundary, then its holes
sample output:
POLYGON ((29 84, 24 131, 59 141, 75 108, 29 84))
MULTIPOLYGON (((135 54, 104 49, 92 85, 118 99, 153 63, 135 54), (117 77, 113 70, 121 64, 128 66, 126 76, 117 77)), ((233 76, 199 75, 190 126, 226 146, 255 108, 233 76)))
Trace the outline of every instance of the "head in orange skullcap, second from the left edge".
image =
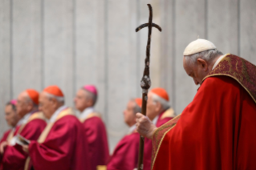
POLYGON ((17 113, 22 118, 30 111, 38 109, 39 92, 33 89, 22 91, 17 99, 17 113))

